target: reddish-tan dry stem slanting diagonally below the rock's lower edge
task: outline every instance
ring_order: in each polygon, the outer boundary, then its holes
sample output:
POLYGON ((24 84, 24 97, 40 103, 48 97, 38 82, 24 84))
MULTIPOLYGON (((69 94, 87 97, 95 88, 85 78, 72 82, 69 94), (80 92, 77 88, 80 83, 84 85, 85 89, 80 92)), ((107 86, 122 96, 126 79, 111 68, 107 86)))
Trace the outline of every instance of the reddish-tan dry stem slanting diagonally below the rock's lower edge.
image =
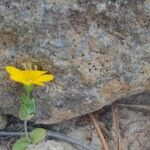
POLYGON ((91 121, 92 121, 92 123, 93 123, 93 125, 94 125, 94 127, 97 131, 97 134, 100 138, 100 142, 102 143, 102 146, 103 146, 104 150, 109 150, 108 145, 106 143, 106 140, 103 136, 103 133, 100 129, 99 123, 97 122, 96 118, 93 116, 93 114, 89 114, 89 118, 91 119, 91 121))

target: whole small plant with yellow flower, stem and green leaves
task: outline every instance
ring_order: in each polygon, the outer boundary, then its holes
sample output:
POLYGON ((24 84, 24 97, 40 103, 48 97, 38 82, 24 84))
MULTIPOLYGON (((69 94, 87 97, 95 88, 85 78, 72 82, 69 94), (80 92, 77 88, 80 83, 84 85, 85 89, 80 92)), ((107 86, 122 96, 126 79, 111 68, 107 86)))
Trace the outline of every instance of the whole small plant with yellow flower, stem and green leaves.
POLYGON ((35 99, 32 97, 34 85, 43 86, 45 82, 52 81, 54 76, 46 74, 47 71, 32 70, 31 67, 26 70, 20 70, 13 66, 6 67, 10 78, 16 82, 23 84, 24 91, 21 95, 19 118, 24 121, 24 137, 17 140, 13 145, 13 150, 25 150, 28 145, 36 144, 43 140, 47 133, 43 128, 36 128, 31 133, 28 133, 27 123, 34 117, 36 111, 35 99))

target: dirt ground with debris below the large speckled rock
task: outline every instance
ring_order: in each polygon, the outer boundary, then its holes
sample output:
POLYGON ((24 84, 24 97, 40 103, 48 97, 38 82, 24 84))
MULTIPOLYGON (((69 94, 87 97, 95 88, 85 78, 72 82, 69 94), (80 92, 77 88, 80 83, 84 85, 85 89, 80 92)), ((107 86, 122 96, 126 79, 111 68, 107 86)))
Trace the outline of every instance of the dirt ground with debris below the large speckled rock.
MULTIPOLYGON (((113 111, 116 113, 119 125, 117 131, 114 123, 114 116, 112 115, 112 105, 105 106, 103 109, 93 113, 100 123, 109 149, 117 150, 117 139, 119 134, 122 150, 150 150, 150 93, 142 93, 126 99, 121 99, 113 105, 113 111)), ((16 118, 8 116, 7 127, 4 131, 23 131, 22 125, 22 122, 18 121, 16 118)), ((73 139, 84 141, 89 144, 93 150, 102 150, 101 142, 88 115, 50 126, 35 125, 34 123, 29 124, 29 130, 35 127, 44 127, 47 130, 53 130, 57 133, 72 137, 73 139)), ((11 150, 11 146, 15 140, 16 137, 14 136, 1 136, 0 150, 11 150)), ((84 149, 51 138, 38 145, 30 146, 28 150, 84 149)))

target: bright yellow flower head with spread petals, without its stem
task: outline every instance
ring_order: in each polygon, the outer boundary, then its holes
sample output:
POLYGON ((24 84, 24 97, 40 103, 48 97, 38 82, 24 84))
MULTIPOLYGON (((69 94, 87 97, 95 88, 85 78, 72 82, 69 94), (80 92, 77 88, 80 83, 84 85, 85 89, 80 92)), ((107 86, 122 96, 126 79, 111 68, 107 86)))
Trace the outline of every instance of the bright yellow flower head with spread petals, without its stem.
POLYGON ((47 71, 20 70, 13 66, 7 66, 6 70, 12 80, 23 83, 24 85, 44 85, 44 82, 54 79, 53 75, 46 74, 47 71))

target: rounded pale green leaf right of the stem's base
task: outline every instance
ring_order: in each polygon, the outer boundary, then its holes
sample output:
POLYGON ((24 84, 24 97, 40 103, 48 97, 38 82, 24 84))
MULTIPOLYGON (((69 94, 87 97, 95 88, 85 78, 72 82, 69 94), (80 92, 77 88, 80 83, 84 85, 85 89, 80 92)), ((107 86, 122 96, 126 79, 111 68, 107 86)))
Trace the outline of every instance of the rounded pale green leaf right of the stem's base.
POLYGON ((47 132, 43 128, 36 128, 30 133, 31 141, 33 144, 37 144, 47 136, 47 132))

